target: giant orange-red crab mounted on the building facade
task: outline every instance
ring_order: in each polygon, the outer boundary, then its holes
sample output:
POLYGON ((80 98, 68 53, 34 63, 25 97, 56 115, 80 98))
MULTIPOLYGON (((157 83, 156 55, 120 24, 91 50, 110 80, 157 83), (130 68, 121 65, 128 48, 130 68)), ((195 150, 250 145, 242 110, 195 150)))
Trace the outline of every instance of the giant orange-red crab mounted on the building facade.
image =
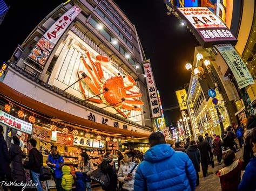
POLYGON ((93 94, 99 95, 98 98, 88 98, 82 82, 79 81, 79 87, 85 99, 95 103, 110 105, 124 117, 129 117, 132 110, 142 111, 141 108, 137 107, 137 105, 144 104, 138 99, 138 97, 142 97, 142 94, 131 90, 136 84, 132 76, 123 70, 125 75, 122 75, 120 72, 114 72, 111 77, 105 79, 103 66, 110 69, 114 68, 110 58, 104 55, 97 55, 96 62, 93 62, 90 53, 88 51, 85 53, 89 63, 86 62, 84 56, 80 56, 80 60, 84 64, 86 75, 84 75, 84 71, 80 70, 78 77, 83 77, 84 82, 93 94), (129 112, 125 114, 125 111, 120 110, 121 108, 129 112))

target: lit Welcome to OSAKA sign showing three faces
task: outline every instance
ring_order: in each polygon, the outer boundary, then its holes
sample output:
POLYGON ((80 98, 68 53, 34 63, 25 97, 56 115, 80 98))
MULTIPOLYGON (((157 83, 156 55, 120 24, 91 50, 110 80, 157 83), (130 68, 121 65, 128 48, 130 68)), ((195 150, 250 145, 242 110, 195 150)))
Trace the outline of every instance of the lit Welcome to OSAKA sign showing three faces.
POLYGON ((177 13, 186 20, 203 48, 211 47, 213 44, 237 43, 237 39, 227 26, 208 8, 177 8, 177 13))

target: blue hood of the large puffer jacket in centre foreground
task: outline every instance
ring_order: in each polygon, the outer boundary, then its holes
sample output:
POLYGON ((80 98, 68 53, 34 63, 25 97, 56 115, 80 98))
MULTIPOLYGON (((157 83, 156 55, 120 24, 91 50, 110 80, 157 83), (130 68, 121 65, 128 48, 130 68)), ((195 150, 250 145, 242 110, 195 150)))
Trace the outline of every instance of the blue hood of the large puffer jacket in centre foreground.
POLYGON ((169 144, 156 145, 146 151, 144 154, 144 160, 158 162, 171 157, 174 152, 175 151, 170 147, 169 144))

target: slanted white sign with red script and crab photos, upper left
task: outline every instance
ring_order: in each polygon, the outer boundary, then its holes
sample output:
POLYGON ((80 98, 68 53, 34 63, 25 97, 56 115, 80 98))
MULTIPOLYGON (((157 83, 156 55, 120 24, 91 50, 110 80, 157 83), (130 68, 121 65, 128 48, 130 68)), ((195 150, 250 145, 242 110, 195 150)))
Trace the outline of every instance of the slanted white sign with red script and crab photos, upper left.
POLYGON ((76 5, 65 12, 33 47, 29 58, 44 66, 53 47, 80 12, 81 9, 76 5))

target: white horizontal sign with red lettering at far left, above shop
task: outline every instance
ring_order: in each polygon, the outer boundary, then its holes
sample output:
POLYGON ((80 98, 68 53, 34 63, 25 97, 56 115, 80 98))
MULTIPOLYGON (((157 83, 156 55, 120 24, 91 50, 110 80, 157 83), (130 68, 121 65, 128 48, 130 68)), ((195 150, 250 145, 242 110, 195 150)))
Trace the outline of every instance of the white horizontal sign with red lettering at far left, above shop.
POLYGON ((32 134, 32 124, 25 122, 19 118, 6 114, 0 110, 0 122, 10 126, 13 129, 22 131, 24 133, 32 134))

